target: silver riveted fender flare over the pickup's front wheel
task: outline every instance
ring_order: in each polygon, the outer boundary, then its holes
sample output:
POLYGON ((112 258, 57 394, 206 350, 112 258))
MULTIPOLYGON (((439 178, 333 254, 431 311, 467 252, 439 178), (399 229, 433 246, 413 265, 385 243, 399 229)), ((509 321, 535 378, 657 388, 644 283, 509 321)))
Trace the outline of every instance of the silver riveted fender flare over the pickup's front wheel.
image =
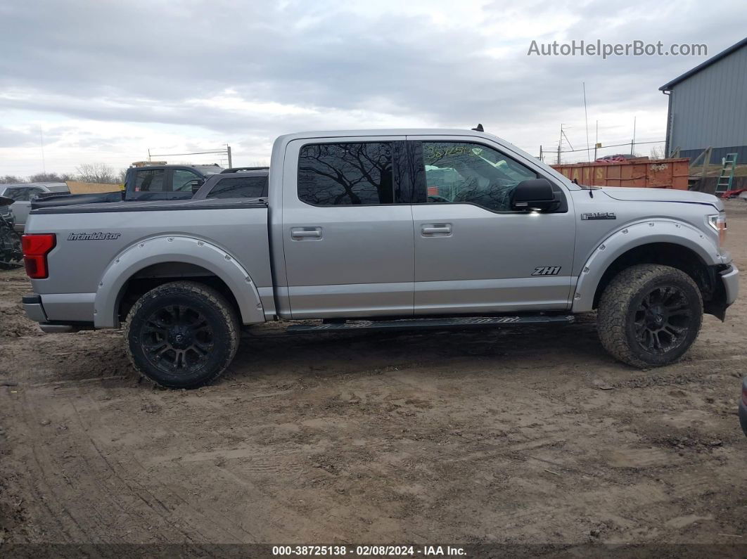
POLYGON ((594 310, 610 281, 640 263, 683 270, 698 284, 705 302, 717 287, 710 266, 721 259, 716 246, 690 225, 661 220, 630 225, 605 239, 586 260, 574 292, 573 312, 594 310))

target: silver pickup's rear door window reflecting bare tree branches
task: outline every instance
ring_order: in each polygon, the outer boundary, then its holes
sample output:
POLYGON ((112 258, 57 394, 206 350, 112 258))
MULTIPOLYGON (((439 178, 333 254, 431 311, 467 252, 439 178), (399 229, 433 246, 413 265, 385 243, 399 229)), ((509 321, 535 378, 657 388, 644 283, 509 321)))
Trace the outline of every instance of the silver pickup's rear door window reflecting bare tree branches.
POLYGON ((298 197, 314 206, 393 203, 391 143, 303 146, 298 161, 298 197))

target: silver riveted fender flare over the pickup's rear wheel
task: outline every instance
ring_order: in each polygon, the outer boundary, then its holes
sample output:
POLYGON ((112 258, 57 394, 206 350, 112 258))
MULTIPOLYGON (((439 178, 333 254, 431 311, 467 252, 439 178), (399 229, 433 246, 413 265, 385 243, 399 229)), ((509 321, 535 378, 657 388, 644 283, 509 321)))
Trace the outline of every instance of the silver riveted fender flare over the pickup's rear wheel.
POLYGON ((94 326, 119 327, 120 313, 131 303, 128 290, 135 284, 141 290, 185 279, 216 287, 235 305, 242 323, 264 322, 257 287, 241 263, 207 241, 173 236, 139 241, 111 260, 96 290, 94 326))

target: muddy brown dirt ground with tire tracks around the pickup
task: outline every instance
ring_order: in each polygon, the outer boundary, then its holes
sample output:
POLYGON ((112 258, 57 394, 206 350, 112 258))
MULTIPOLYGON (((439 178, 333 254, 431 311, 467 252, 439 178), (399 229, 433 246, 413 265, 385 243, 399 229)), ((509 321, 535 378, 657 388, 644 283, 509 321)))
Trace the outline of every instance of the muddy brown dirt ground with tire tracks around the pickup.
MULTIPOLYGON (((728 206, 747 270, 747 204, 728 206)), ((41 334, 0 272, 0 542, 747 543, 747 296, 674 366, 563 328, 256 328, 220 381, 41 334)))

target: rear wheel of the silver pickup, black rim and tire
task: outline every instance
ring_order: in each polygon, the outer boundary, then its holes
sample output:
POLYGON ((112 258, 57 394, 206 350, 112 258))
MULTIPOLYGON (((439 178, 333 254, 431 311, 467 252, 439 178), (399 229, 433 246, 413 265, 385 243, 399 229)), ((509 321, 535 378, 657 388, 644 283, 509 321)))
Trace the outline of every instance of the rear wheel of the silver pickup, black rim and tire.
POLYGON ((238 320, 213 288, 174 281, 137 300, 127 316, 125 339, 142 375, 167 388, 196 388, 231 363, 238 349, 238 320))

